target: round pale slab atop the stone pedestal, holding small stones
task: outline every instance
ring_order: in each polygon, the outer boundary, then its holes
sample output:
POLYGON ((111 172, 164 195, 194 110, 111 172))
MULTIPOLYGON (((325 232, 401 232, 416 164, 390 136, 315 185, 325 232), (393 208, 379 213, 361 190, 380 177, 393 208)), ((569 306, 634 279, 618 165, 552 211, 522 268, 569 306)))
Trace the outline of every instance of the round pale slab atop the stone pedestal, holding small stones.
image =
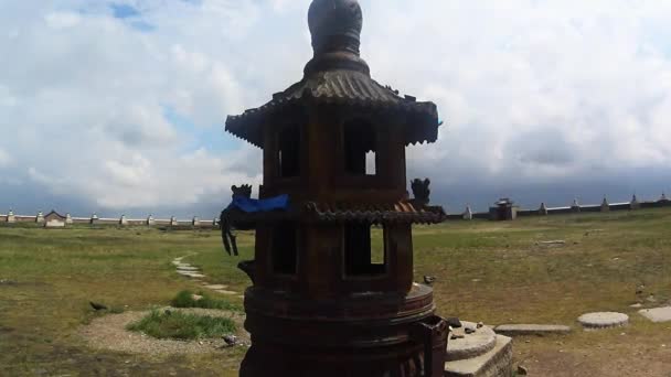
POLYGON ((446 362, 478 357, 494 348, 497 345, 494 331, 487 326, 477 327, 478 325, 472 322, 461 321, 461 327, 452 330, 447 341, 446 362), (466 328, 472 328, 476 332, 466 334, 466 328), (452 338, 455 335, 457 338, 452 338))

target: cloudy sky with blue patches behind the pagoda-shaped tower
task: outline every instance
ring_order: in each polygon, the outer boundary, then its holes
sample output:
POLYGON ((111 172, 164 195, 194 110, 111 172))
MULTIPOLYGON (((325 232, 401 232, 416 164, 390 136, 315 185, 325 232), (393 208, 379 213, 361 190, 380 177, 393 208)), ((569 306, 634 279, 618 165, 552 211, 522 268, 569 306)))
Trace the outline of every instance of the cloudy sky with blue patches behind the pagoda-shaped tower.
MULTIPOLYGON (((214 216, 225 117, 299 80, 309 0, 1 0, 0 213, 214 216)), ((671 0, 362 0, 374 78, 438 105, 451 212, 671 192, 671 0)))

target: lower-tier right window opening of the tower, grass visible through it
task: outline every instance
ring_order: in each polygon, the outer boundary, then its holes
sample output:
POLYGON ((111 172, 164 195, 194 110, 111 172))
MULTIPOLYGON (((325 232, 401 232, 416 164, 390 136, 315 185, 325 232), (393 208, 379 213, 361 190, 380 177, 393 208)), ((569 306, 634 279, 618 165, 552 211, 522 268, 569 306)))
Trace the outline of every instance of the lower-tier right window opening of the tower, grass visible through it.
POLYGON ((385 231, 374 237, 370 224, 344 226, 344 265, 350 277, 381 276, 386 273, 385 231))

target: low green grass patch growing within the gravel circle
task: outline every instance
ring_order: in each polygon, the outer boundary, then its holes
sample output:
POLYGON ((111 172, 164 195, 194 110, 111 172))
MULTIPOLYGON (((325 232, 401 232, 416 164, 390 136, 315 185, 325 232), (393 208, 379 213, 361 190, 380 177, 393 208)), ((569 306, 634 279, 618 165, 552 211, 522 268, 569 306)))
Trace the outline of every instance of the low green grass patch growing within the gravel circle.
POLYGON ((138 322, 129 324, 127 330, 142 332, 156 338, 191 341, 209 337, 221 337, 235 332, 231 319, 212 317, 182 313, 179 311, 151 311, 138 322))

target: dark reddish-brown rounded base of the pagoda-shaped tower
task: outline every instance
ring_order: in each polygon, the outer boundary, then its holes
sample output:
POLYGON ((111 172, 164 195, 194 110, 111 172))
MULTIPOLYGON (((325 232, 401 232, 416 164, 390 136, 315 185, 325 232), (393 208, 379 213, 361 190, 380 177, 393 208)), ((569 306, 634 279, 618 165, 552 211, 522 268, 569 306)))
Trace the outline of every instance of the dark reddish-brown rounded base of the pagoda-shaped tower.
POLYGON ((433 290, 419 284, 404 298, 373 292, 322 300, 248 288, 252 347, 239 376, 420 377, 425 364, 432 377, 440 376, 447 326, 439 326, 434 308, 433 290), (427 360, 427 348, 439 352, 427 360))

